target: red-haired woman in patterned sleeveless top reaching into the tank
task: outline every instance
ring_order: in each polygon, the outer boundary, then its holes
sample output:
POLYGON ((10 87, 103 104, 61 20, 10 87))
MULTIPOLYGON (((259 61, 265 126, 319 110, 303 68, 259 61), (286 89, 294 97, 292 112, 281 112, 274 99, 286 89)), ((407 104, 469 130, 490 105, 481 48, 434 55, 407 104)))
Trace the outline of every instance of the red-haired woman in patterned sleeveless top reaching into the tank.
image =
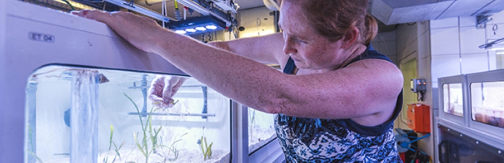
POLYGON ((278 114, 287 162, 400 162, 392 124, 403 77, 369 45, 377 28, 366 9, 367 0, 284 0, 283 33, 211 44, 218 48, 129 13, 74 14, 106 23, 233 100, 278 114))

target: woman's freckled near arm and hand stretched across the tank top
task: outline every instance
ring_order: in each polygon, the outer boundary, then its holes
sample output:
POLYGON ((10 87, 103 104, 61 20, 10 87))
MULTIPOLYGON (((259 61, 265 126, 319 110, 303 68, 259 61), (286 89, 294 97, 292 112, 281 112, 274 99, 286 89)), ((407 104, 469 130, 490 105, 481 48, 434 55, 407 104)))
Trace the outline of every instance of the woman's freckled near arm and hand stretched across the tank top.
POLYGON ((77 14, 108 24, 136 47, 157 53, 221 94, 268 113, 327 119, 374 115, 393 109, 402 88, 401 72, 383 60, 362 60, 326 73, 286 75, 160 28, 147 18, 129 13, 77 14))

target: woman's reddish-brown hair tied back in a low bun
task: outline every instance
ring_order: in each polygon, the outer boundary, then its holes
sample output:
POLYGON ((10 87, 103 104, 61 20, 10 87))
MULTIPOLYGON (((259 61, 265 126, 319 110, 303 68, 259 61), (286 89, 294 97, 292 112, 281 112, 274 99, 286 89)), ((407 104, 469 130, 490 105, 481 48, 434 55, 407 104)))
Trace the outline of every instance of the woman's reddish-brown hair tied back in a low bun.
POLYGON ((367 14, 368 0, 284 0, 301 5, 302 15, 319 35, 331 42, 356 27, 356 43, 368 44, 376 37, 376 20, 367 14))

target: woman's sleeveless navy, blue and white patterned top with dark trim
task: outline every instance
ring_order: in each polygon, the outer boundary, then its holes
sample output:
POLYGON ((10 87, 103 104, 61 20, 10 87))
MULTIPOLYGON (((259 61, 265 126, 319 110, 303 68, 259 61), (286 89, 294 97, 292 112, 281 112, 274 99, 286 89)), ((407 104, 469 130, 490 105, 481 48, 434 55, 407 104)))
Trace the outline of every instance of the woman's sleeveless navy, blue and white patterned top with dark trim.
MULTIPOLYGON (((390 59, 369 45, 351 63, 364 59, 390 59)), ((284 73, 292 74, 289 58, 284 73)), ((398 95, 393 117, 373 127, 351 119, 303 118, 277 114, 275 128, 286 162, 402 162, 397 152, 393 123, 401 111, 403 92, 398 95)))

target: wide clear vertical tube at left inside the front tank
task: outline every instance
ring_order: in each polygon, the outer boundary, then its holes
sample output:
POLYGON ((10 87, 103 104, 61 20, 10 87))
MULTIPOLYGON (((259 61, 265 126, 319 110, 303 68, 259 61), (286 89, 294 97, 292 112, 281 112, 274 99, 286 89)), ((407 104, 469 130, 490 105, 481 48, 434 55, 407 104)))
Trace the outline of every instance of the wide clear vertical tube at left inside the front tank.
POLYGON ((72 72, 70 162, 98 161, 98 84, 93 70, 72 72))

